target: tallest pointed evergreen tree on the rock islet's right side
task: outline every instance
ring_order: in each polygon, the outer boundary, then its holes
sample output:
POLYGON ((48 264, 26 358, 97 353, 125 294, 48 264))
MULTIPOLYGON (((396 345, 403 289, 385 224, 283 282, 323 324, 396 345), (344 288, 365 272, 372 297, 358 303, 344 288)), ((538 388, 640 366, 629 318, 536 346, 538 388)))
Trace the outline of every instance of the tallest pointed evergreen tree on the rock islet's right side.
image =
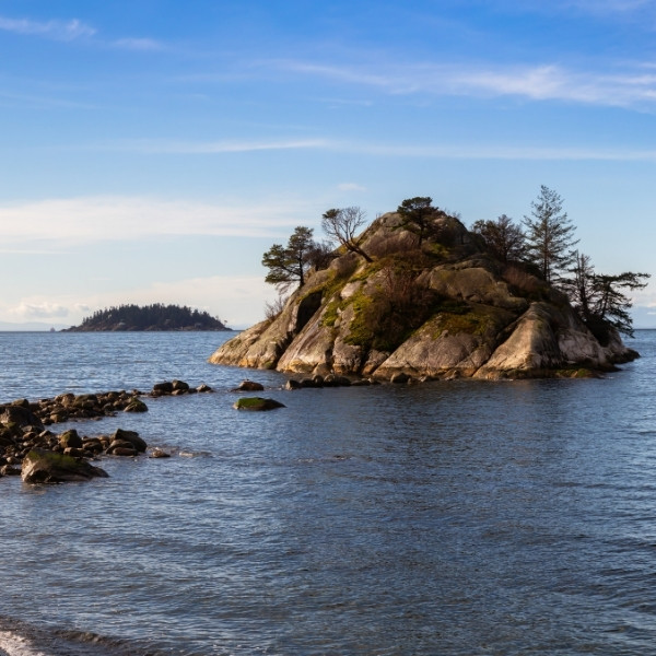
POLYGON ((537 200, 531 202, 531 215, 524 216, 526 254, 544 280, 557 283, 574 261, 574 225, 563 212, 563 199, 542 185, 537 200))

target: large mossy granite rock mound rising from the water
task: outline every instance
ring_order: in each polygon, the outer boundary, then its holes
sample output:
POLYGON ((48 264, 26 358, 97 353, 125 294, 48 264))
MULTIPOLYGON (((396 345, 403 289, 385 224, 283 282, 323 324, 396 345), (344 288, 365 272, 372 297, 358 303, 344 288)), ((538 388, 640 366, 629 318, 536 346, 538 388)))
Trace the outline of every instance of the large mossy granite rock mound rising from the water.
POLYGON ((215 364, 390 379, 575 376, 637 354, 601 344, 566 297, 525 268, 495 261, 452 216, 418 247, 396 213, 365 232, 373 262, 340 253, 282 313, 224 343, 215 364))

